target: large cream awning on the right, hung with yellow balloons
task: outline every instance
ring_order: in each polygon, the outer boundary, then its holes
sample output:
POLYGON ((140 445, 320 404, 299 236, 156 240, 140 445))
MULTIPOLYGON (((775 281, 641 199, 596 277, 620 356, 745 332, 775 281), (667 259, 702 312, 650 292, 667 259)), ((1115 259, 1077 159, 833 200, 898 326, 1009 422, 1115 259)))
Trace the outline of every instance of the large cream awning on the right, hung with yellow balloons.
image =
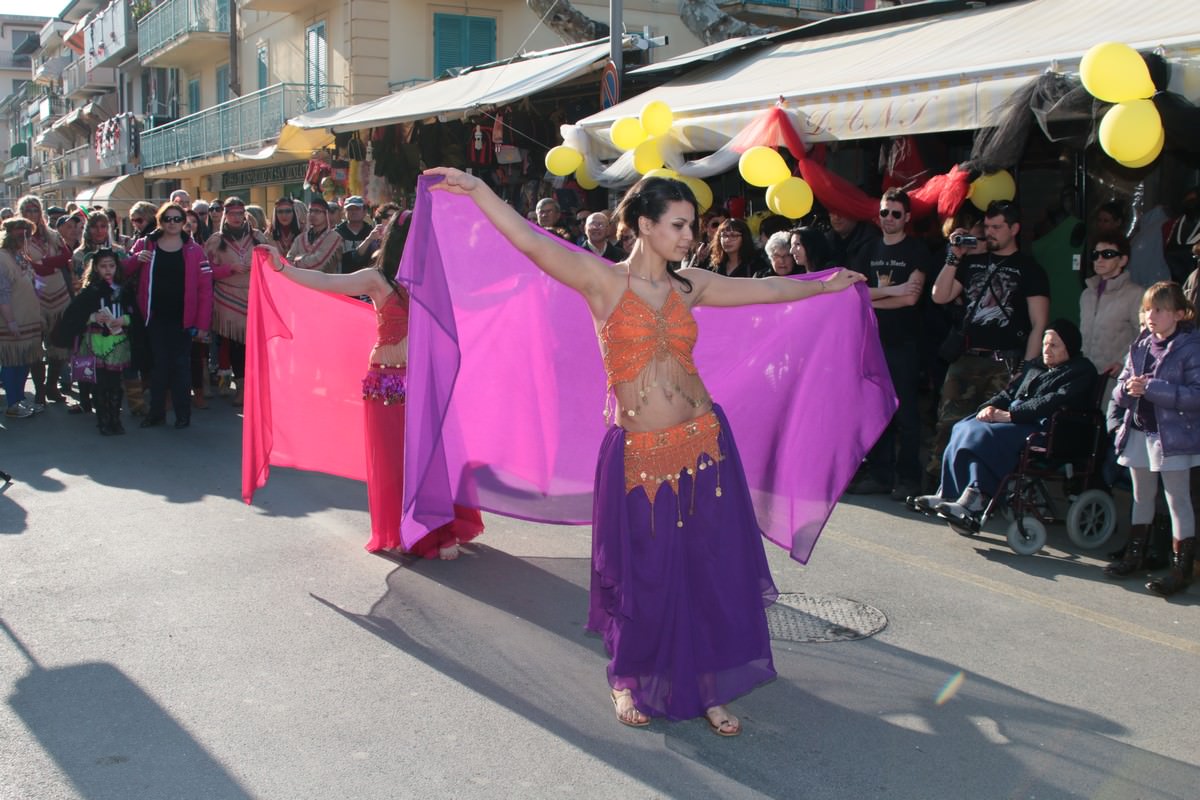
MULTIPOLYGON (((1042 72, 1078 70, 1098 42, 1194 58, 1194 10, 1193 0, 1136 11, 1126 0, 1027 0, 781 42, 728 55, 578 126, 600 157, 616 155, 612 122, 654 100, 674 112, 672 136, 689 152, 719 150, 780 98, 806 142, 974 130, 995 124, 1004 101, 1042 72)), ((1183 80, 1174 76, 1172 88, 1183 80)))

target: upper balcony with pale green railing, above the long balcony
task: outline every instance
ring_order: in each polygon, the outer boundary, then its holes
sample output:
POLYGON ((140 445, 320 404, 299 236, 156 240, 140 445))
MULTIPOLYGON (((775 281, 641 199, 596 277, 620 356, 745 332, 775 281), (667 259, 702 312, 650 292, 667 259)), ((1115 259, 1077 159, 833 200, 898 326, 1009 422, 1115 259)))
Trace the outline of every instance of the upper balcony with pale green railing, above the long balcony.
POLYGON ((143 66, 194 67, 229 48, 230 0, 167 0, 138 20, 143 66))

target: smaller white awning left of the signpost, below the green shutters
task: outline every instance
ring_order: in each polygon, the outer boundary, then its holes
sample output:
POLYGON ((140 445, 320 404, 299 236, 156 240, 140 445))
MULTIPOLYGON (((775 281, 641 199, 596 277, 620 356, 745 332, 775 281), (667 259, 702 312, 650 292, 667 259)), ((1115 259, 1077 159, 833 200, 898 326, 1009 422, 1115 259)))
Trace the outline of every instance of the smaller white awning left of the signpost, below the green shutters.
POLYGON ((476 67, 455 78, 425 83, 366 103, 302 114, 288 120, 288 125, 346 133, 430 116, 461 118, 598 70, 607 58, 607 41, 528 53, 512 61, 476 67))

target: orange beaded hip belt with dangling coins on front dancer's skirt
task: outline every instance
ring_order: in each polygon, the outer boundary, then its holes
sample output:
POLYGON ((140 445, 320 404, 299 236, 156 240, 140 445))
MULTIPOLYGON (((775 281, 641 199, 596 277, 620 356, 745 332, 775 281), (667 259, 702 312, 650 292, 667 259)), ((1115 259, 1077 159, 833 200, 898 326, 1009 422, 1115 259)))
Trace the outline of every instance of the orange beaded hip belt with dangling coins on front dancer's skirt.
POLYGON ((682 475, 695 475, 697 469, 721 461, 720 433, 721 423, 713 411, 662 431, 626 431, 625 492, 641 486, 652 505, 664 483, 678 494, 682 475))

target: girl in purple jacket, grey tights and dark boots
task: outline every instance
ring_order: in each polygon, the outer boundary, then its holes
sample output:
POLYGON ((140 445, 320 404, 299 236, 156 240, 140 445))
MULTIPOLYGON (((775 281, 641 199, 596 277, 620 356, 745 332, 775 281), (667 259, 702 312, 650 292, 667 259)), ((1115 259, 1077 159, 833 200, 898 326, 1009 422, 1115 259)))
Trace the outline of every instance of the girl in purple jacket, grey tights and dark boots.
POLYGON ((1154 495, 1162 477, 1175 534, 1170 572, 1146 588, 1168 597, 1187 589, 1195 565, 1195 512, 1189 473, 1200 465, 1200 332, 1195 307, 1177 283, 1146 289, 1146 330, 1129 348, 1112 390, 1124 410, 1117 431, 1117 461, 1133 475, 1133 527, 1124 558, 1104 573, 1124 577, 1142 567, 1154 495))

